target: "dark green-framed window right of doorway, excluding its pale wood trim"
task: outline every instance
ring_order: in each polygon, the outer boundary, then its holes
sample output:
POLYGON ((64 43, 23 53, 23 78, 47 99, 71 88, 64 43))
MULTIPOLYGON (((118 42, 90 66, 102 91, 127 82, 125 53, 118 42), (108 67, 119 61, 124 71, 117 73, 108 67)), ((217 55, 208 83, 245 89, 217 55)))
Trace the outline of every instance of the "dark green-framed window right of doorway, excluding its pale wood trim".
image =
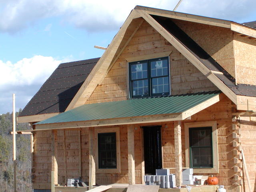
POLYGON ((189 128, 190 167, 212 168, 212 127, 189 128))

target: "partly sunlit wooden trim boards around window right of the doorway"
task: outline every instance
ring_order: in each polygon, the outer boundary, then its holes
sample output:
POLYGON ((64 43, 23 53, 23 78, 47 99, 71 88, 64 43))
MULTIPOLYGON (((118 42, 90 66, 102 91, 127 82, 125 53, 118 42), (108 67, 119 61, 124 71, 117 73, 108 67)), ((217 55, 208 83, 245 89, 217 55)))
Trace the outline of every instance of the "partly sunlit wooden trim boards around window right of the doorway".
POLYGON ((212 168, 193 168, 194 173, 219 173, 218 162, 218 134, 217 134, 217 122, 189 122, 184 123, 185 128, 185 155, 186 155, 186 167, 190 167, 190 144, 189 144, 189 128, 200 127, 212 127, 212 168))

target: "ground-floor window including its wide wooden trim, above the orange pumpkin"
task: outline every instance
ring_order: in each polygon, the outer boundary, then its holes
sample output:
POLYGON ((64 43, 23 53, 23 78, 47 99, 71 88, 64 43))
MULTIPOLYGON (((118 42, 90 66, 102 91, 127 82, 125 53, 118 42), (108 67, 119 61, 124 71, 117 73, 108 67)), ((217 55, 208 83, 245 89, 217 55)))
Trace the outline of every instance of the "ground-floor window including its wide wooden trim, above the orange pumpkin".
POLYGON ((217 122, 184 123, 186 167, 194 173, 218 173, 217 122))

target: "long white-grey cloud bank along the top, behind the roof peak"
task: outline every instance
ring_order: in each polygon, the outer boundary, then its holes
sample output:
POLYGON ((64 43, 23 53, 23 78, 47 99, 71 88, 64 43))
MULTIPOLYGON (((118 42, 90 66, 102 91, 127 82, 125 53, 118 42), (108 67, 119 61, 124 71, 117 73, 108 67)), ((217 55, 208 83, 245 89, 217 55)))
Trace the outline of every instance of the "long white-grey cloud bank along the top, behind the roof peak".
MULTIPOLYGON (((1 2, 0 2, 1 3, 1 2)), ((58 16, 88 31, 117 29, 137 4, 173 10, 178 0, 10 0, 1 3, 0 31, 17 32, 43 18, 58 16)), ((240 21, 256 12, 255 0, 183 0, 176 11, 240 21)))

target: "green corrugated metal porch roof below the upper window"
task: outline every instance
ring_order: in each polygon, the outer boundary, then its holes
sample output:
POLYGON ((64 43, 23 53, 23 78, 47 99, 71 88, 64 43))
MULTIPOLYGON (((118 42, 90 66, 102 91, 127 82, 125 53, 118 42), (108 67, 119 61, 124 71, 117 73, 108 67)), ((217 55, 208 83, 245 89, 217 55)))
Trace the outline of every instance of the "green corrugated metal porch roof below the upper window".
POLYGON ((219 91, 214 91, 86 104, 36 124, 181 113, 218 94, 220 94, 219 91))

